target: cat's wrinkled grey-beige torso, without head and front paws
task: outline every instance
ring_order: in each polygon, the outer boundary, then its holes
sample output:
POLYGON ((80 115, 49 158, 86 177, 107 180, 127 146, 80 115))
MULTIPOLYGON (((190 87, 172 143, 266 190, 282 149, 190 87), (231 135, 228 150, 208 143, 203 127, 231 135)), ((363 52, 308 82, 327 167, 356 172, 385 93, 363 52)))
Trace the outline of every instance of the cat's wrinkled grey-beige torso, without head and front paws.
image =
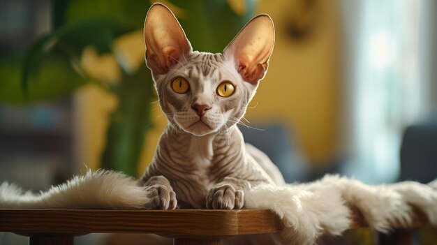
POLYGON ((203 136, 168 126, 142 182, 156 176, 168 179, 181 208, 195 209, 205 209, 207 194, 223 181, 239 190, 262 183, 284 184, 281 173, 262 151, 244 145, 237 126, 203 136))

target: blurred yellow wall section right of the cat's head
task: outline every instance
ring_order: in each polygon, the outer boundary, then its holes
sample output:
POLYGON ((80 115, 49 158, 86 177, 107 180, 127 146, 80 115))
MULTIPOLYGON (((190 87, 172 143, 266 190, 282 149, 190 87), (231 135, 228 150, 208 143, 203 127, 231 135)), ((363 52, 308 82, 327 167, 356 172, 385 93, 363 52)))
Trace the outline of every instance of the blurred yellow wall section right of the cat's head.
POLYGON ((249 121, 286 123, 313 164, 336 157, 339 117, 339 10, 336 1, 317 1, 313 36, 292 42, 285 32, 298 1, 260 1, 259 13, 274 20, 276 43, 267 76, 248 110, 249 121))

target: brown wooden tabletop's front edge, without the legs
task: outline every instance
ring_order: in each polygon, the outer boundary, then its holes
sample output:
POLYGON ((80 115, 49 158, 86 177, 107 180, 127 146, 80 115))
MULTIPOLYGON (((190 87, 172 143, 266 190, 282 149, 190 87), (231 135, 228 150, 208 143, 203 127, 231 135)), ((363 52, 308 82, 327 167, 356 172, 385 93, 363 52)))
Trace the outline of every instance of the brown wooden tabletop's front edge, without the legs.
POLYGON ((172 236, 232 236, 279 232, 272 211, 0 209, 0 231, 31 234, 154 233, 172 236))

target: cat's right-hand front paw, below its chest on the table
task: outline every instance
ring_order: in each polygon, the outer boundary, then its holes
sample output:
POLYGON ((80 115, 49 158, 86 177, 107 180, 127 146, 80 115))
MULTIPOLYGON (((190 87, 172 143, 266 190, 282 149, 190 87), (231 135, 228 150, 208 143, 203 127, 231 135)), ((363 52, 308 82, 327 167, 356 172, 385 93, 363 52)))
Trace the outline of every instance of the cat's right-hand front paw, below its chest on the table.
POLYGON ((207 209, 242 209, 244 192, 230 184, 212 188, 207 195, 207 209))

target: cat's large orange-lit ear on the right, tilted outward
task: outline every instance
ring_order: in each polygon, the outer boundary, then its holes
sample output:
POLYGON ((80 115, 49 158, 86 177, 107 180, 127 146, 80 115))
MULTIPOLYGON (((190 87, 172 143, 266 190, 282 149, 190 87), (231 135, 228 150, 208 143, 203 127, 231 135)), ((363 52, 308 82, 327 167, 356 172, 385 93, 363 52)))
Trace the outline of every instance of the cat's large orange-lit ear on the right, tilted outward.
POLYGON ((239 31, 223 54, 235 59, 244 81, 256 84, 265 75, 273 46, 273 21, 269 15, 258 15, 239 31))

